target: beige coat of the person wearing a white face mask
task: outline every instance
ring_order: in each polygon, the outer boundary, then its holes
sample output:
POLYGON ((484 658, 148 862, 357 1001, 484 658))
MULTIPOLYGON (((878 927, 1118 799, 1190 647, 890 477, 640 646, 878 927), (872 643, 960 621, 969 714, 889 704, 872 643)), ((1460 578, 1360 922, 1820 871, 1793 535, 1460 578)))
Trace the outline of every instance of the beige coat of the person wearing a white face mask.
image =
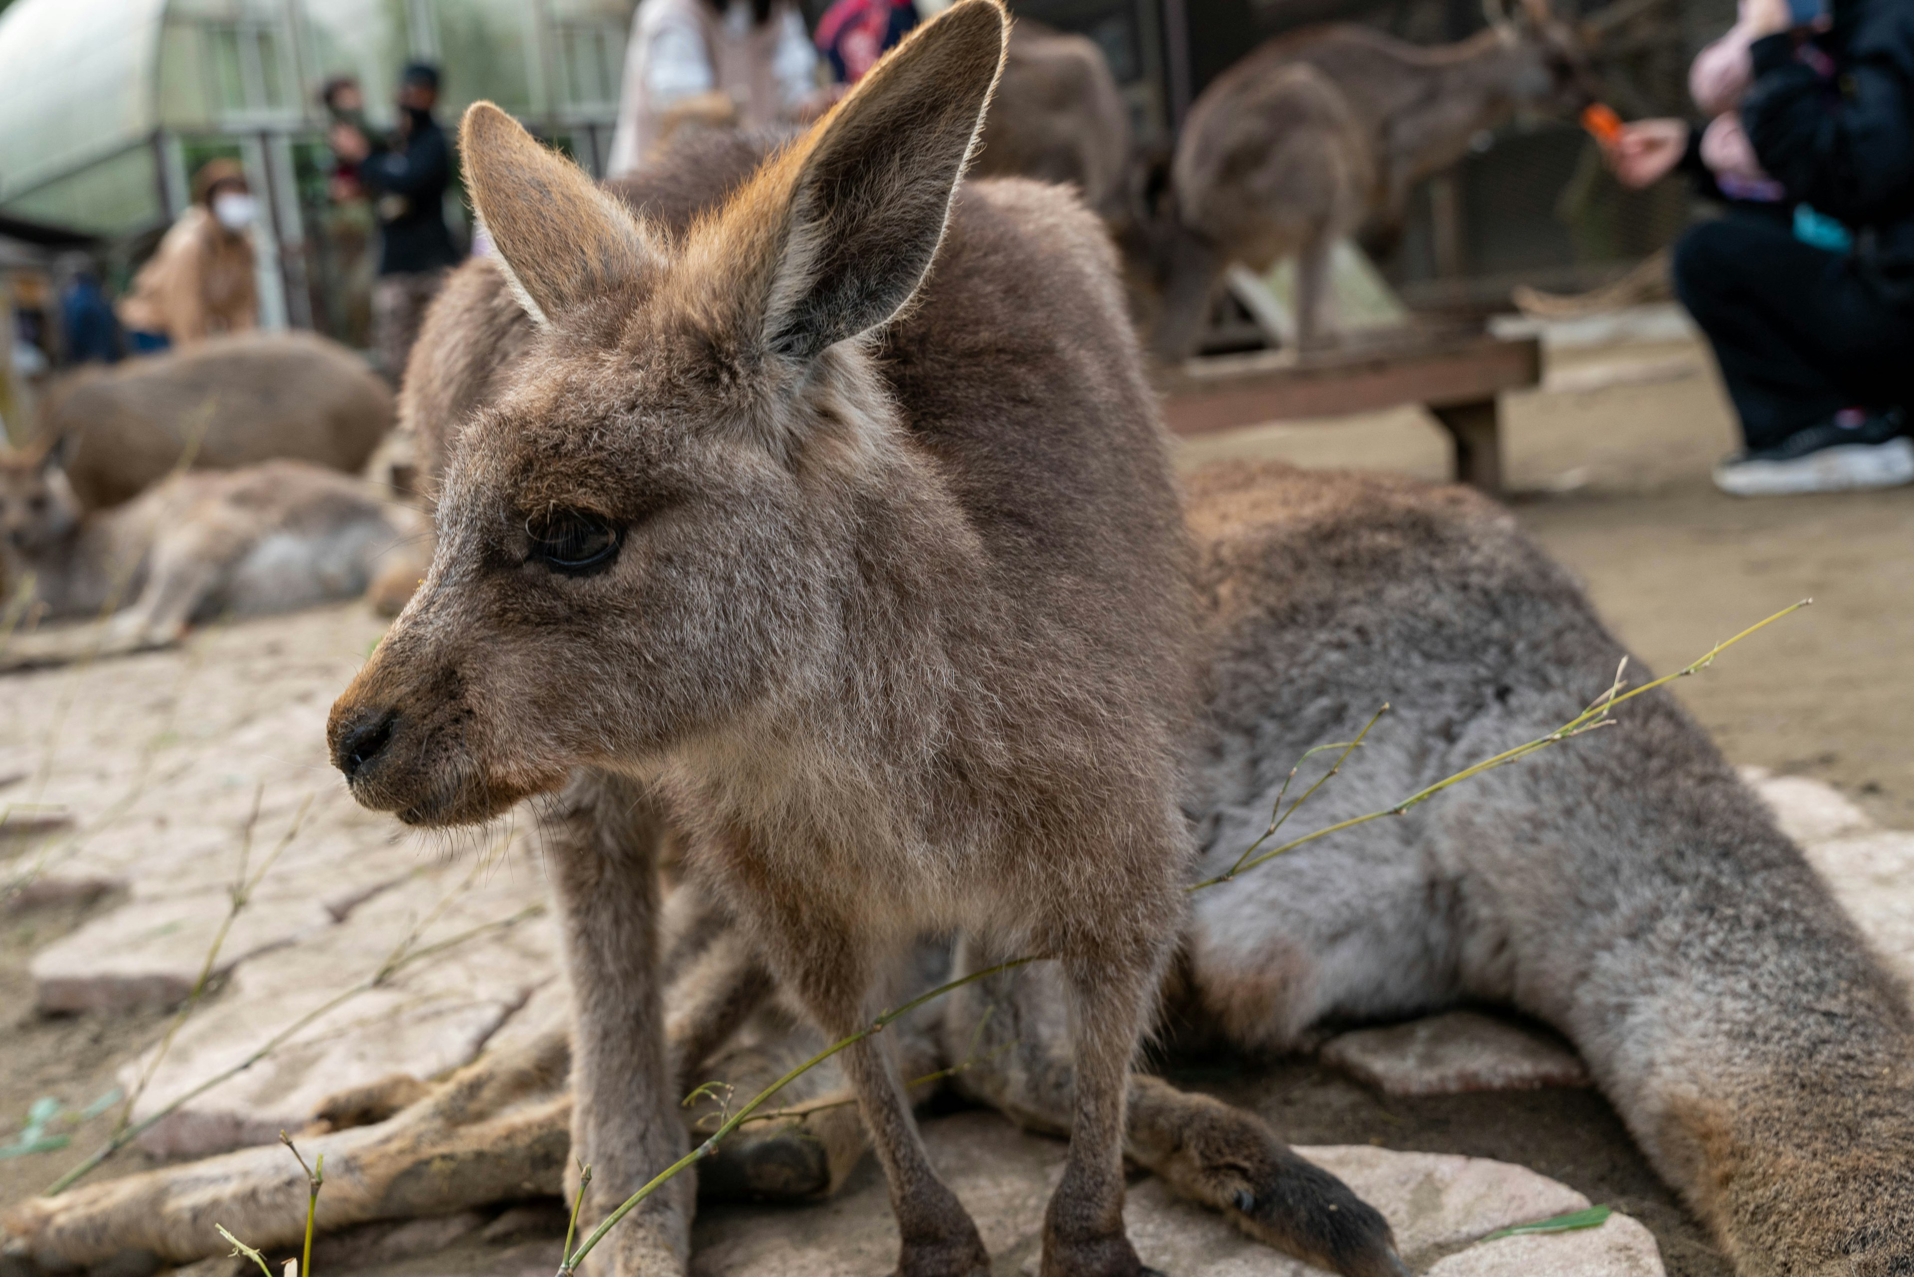
POLYGON ((180 214, 119 304, 121 324, 165 333, 186 347, 212 333, 258 327, 253 241, 214 220, 205 205, 180 214))

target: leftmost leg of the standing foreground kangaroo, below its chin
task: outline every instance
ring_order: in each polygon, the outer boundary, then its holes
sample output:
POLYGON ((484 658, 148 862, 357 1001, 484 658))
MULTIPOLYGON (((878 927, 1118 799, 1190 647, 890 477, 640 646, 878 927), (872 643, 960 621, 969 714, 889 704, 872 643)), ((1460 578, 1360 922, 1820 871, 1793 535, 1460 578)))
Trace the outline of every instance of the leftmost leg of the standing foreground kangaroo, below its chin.
MULTIPOLYGON (((687 1149, 664 1038, 664 825, 637 783, 582 770, 542 827, 572 982, 572 1160, 591 1166, 578 1218, 595 1225, 687 1149)), ((691 1174, 662 1185, 591 1252, 593 1273, 681 1273, 693 1199, 691 1174)))

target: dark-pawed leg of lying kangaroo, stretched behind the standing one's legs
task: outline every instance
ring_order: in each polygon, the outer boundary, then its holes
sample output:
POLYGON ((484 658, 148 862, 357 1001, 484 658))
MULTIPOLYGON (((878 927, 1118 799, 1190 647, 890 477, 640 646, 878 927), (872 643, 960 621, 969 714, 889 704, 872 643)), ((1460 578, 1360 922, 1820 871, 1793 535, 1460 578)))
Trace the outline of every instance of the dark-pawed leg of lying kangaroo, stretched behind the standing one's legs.
MULTIPOLYGON (((1051 965, 951 994, 944 1042, 955 1086, 1020 1126, 1070 1133, 1076 1074, 1066 1005, 1068 990, 1051 965)), ((1124 1151, 1179 1195, 1279 1250, 1349 1277, 1405 1271, 1382 1214, 1296 1156, 1256 1114, 1131 1074, 1124 1151)))

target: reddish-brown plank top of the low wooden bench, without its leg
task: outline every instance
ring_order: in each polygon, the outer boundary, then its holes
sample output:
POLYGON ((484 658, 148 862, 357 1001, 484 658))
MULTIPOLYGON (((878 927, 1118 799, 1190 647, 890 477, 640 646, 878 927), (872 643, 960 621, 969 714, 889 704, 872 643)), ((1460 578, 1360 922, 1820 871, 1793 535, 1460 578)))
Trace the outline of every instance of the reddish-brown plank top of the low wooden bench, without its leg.
POLYGON ((1192 360, 1162 379, 1177 435, 1340 417, 1397 404, 1449 408, 1541 381, 1541 343, 1481 333, 1332 350, 1192 360))

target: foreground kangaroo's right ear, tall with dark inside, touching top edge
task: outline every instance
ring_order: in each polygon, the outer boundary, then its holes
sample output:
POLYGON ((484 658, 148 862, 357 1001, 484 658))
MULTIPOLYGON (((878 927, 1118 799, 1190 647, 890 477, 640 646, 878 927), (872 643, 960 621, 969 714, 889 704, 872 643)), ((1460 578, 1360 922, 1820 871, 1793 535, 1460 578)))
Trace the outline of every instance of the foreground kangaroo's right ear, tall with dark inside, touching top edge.
MULTIPOLYGON (((997 0, 959 0, 762 174, 789 191, 781 234, 769 237, 769 350, 813 356, 888 322, 917 291, 976 147, 1007 33, 997 0)), ((745 203, 779 211, 777 199, 745 203)))

